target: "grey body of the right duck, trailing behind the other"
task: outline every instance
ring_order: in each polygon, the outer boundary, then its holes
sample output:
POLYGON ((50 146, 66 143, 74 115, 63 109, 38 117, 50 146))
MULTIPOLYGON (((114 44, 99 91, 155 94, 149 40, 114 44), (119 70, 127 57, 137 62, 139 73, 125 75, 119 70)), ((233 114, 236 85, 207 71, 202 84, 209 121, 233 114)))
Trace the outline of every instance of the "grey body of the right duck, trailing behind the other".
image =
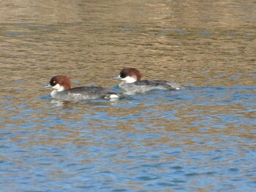
POLYGON ((118 86, 124 91, 131 93, 144 93, 153 89, 179 90, 184 88, 177 82, 167 82, 164 80, 139 80, 132 83, 121 82, 118 86))

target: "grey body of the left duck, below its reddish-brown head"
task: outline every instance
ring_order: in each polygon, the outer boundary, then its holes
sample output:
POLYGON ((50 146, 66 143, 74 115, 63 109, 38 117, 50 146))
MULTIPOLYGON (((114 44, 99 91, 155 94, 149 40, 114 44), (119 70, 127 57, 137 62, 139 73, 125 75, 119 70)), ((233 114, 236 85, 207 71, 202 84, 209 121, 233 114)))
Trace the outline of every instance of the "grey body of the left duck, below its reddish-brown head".
POLYGON ((50 93, 53 99, 62 100, 110 99, 111 95, 116 95, 116 93, 101 87, 78 87, 66 91, 54 90, 50 93))

